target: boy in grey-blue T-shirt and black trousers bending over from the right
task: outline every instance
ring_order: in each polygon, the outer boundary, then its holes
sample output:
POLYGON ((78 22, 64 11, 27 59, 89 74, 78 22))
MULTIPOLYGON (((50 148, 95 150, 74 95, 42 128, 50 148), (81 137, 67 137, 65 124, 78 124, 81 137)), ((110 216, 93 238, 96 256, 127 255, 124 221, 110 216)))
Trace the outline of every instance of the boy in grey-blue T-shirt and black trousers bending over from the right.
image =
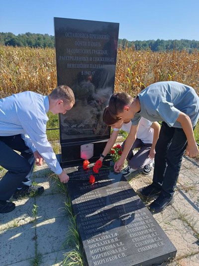
POLYGON ((150 209, 154 212, 163 211, 173 203, 185 150, 191 158, 199 154, 193 131, 199 119, 199 97, 196 91, 175 81, 157 82, 144 89, 135 99, 124 92, 114 93, 108 108, 113 117, 130 118, 132 121, 123 154, 114 165, 116 172, 121 171, 136 139, 140 118, 163 121, 155 148, 153 183, 141 192, 145 197, 159 195, 150 204, 150 209))

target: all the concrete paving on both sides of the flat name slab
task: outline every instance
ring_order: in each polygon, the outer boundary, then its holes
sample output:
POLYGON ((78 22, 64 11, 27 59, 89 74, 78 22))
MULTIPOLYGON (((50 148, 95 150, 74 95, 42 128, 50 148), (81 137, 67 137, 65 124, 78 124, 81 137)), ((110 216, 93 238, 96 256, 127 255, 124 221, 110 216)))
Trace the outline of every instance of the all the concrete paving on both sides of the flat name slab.
MULTIPOLYGON (((61 266, 72 250, 66 245, 66 195, 49 174, 47 166, 36 167, 33 180, 44 186, 44 193, 14 201, 13 212, 0 214, 0 266, 61 266)), ((151 179, 152 173, 135 172, 129 182, 137 190, 151 179)), ((154 218, 178 250, 176 260, 165 265, 199 266, 199 163, 183 159, 175 203, 154 218)))

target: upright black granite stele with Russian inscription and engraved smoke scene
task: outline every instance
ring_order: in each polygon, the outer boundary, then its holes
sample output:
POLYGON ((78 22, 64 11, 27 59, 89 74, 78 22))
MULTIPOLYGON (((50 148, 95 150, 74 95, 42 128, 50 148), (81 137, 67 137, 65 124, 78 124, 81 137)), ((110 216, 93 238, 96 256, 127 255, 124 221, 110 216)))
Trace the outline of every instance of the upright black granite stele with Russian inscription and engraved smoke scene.
POLYGON ((83 144, 94 145, 95 161, 110 136, 102 114, 114 90, 119 24, 55 17, 54 25, 57 83, 71 87, 76 98, 67 115, 60 115, 65 168, 83 162, 83 144))

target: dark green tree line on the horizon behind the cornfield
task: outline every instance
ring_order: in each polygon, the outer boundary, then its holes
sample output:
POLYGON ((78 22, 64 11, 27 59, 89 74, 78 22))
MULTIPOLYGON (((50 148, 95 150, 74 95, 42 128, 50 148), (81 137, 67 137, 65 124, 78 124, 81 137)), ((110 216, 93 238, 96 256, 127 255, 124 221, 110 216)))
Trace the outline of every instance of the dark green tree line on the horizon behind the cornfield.
MULTIPOLYGON (((55 47, 55 37, 49 34, 30 33, 14 35, 11 32, 0 32, 0 45, 10 46, 30 46, 30 47, 55 47)), ((135 50, 152 50, 152 51, 167 51, 167 50, 183 50, 186 49, 192 52, 194 49, 199 49, 198 40, 135 40, 119 39, 118 46, 133 47, 135 50)))

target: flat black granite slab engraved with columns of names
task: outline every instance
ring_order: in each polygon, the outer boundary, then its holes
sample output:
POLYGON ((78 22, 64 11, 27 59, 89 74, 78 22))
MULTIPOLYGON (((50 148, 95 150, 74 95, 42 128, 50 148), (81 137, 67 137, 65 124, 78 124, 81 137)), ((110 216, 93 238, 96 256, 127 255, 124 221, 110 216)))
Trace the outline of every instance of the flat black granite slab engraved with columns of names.
POLYGON ((68 192, 89 266, 152 266, 176 248, 122 174, 67 168, 68 192))

